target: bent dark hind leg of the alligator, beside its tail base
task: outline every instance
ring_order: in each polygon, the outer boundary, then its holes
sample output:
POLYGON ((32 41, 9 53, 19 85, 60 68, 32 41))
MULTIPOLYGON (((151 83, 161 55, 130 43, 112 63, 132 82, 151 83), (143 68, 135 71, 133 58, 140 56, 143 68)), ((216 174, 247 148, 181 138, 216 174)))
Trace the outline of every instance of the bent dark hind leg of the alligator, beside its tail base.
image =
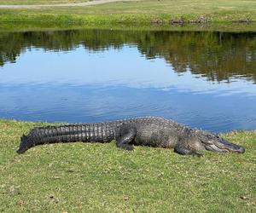
POLYGON ((136 130, 131 128, 130 130, 121 131, 121 134, 116 142, 116 146, 125 150, 133 150, 133 147, 129 144, 134 140, 136 136, 136 130))

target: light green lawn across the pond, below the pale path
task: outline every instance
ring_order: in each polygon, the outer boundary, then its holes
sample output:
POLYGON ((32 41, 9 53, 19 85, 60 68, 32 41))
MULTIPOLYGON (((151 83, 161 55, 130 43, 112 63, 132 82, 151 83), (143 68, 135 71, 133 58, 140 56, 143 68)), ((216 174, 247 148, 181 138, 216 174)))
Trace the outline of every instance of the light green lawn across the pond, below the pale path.
MULTIPOLYGON (((0 4, 5 2, 0 0, 0 4)), ((169 25, 171 20, 178 23, 256 21, 256 1, 144 0, 86 7, 0 9, 0 21, 53 21, 99 25, 153 22, 169 25)))

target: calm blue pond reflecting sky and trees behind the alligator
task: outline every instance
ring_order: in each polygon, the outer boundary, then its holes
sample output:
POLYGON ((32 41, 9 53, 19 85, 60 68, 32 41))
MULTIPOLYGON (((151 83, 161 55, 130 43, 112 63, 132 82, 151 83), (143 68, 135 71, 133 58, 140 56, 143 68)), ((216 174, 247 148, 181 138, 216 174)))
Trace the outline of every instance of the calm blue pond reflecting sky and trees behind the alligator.
POLYGON ((256 129, 256 33, 0 32, 0 118, 256 129))

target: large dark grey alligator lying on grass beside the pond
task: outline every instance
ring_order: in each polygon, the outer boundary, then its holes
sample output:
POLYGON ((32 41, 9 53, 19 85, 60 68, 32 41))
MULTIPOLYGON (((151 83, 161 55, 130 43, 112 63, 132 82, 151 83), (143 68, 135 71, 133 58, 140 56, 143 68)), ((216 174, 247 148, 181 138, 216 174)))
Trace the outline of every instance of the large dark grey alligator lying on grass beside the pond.
POLYGON ((37 145, 58 142, 110 142, 125 150, 133 146, 173 148, 183 155, 200 157, 201 151, 244 153, 245 148, 205 130, 192 129, 160 117, 129 118, 105 123, 36 127, 20 138, 17 153, 37 145))

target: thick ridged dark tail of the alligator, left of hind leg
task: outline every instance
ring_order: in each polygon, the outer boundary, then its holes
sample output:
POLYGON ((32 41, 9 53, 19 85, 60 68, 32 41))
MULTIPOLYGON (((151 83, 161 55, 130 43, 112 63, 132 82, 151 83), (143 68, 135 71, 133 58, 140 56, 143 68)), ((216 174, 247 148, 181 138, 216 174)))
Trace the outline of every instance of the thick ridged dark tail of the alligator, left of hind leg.
POLYGON ((28 135, 21 136, 17 153, 25 153, 29 148, 40 144, 76 141, 108 142, 113 139, 115 139, 115 128, 109 123, 38 127, 32 129, 28 135))

